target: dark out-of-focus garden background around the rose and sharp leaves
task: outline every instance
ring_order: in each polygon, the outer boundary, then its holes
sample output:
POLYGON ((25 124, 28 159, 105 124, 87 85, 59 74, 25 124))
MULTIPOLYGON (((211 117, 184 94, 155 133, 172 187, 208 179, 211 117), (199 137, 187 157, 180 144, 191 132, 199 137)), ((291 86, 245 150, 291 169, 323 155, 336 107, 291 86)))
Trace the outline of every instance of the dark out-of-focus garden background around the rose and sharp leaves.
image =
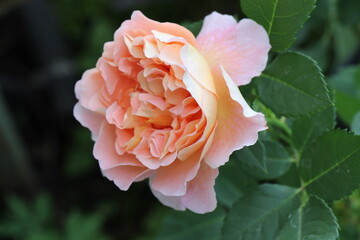
MULTIPOLYGON (((73 87, 133 10, 189 26, 237 0, 0 2, 0 239, 155 239, 171 212, 147 182, 103 178, 73 87)), ((360 1, 318 0, 293 50, 313 57, 335 96, 338 127, 360 134, 360 1)), ((246 93, 244 93, 246 95, 246 93)), ((360 239, 360 194, 334 206, 342 239, 360 239)))

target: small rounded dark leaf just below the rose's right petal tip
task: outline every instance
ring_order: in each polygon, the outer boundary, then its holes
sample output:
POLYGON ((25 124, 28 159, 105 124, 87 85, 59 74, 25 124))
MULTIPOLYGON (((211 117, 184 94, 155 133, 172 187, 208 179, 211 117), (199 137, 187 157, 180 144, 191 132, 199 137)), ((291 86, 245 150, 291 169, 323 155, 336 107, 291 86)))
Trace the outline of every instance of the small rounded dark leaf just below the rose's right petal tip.
POLYGON ((265 169, 249 167, 242 164, 242 169, 258 179, 275 179, 286 173, 291 165, 291 159, 286 149, 278 142, 265 140, 262 141, 265 148, 265 169))

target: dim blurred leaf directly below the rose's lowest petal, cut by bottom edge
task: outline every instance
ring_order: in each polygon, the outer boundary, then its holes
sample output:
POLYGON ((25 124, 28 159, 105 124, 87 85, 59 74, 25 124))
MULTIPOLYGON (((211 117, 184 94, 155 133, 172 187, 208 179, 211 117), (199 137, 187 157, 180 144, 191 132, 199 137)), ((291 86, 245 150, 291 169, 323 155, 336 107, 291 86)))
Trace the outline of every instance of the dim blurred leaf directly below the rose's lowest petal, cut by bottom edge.
POLYGON ((157 240, 218 240, 225 212, 217 208, 207 214, 171 211, 165 217, 157 240))

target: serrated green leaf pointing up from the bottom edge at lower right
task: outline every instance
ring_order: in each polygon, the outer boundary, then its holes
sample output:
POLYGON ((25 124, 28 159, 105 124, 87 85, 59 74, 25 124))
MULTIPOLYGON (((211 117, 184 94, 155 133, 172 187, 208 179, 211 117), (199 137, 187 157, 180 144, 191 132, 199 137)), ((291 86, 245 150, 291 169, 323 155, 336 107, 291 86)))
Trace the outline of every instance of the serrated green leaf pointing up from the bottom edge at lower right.
POLYGON ((312 197, 291 215, 276 240, 336 240, 338 228, 332 210, 323 200, 312 197))

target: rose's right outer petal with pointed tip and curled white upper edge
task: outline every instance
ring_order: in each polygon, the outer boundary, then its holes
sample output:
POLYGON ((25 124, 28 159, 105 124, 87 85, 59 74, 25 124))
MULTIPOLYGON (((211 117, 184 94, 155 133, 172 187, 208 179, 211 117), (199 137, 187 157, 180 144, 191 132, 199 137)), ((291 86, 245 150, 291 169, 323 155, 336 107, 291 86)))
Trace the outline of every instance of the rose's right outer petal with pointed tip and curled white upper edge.
POLYGON ((264 115, 249 107, 234 81, 222 67, 221 70, 222 74, 215 76, 219 96, 218 126, 205 155, 205 162, 212 168, 225 164, 233 151, 253 145, 258 132, 267 128, 264 115))

